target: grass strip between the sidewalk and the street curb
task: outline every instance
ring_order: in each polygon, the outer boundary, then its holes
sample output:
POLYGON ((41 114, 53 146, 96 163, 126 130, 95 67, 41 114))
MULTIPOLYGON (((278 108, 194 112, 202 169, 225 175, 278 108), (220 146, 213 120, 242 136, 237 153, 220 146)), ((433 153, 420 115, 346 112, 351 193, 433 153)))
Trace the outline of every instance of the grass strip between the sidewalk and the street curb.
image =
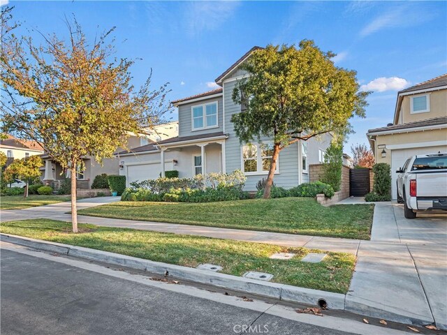
POLYGON ((346 293, 356 261, 347 253, 328 253, 320 263, 301 262, 307 248, 288 248, 226 239, 169 234, 125 228, 79 225, 73 234, 71 223, 34 219, 2 223, 0 232, 75 246, 121 253, 186 267, 202 263, 221 265, 225 274, 242 276, 246 271, 273 274, 277 283, 346 293), (273 253, 295 253, 291 260, 272 260, 273 253))

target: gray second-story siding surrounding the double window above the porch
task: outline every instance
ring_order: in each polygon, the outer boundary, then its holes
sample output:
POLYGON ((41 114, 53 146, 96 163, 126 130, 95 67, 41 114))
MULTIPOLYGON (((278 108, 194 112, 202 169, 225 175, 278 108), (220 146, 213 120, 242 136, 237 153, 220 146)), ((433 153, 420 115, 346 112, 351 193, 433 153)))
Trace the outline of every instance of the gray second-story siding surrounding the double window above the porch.
MULTIPOLYGON (((219 131, 223 131, 222 124, 222 114, 223 114, 223 105, 222 105, 222 96, 218 96, 215 98, 209 98, 201 101, 195 101, 193 103, 185 103, 184 105, 179 105, 179 137, 182 136, 190 136, 190 135, 200 135, 206 133, 217 133, 219 131), (217 127, 214 128, 205 128, 201 130, 193 130, 192 128, 192 110, 191 107, 196 105, 203 105, 206 103, 212 103, 217 101, 217 127)), ((205 112, 205 110, 204 110, 205 112)))

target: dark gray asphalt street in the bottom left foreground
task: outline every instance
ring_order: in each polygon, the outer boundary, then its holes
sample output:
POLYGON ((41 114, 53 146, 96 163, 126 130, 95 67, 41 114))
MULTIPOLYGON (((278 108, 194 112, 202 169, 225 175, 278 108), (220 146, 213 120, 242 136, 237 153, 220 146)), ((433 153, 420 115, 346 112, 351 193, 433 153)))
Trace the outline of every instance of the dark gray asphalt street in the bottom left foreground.
POLYGON ((1 251, 1 334, 351 334, 1 251), (242 332, 245 327, 246 332, 242 332))

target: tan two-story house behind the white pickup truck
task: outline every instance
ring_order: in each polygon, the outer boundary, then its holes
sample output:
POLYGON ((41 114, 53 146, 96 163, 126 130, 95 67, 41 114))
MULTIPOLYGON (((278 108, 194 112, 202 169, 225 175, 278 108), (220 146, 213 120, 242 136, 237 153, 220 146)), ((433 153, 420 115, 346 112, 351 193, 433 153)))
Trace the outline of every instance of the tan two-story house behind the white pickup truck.
POLYGON ((414 155, 447 152, 447 74, 397 94, 393 124, 367 133, 376 163, 391 165, 392 195, 396 170, 414 155))

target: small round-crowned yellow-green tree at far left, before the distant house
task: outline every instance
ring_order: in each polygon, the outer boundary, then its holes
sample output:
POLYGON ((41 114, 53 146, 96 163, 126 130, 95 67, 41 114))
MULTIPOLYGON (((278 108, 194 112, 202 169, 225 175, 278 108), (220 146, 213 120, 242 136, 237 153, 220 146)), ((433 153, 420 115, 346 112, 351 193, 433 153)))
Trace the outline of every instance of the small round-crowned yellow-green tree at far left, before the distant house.
POLYGON ((29 182, 41 176, 41 166, 43 165, 40 156, 31 156, 22 159, 15 159, 8 165, 3 177, 7 180, 17 176, 18 179, 27 181, 27 187, 24 191, 24 197, 28 197, 29 182))

